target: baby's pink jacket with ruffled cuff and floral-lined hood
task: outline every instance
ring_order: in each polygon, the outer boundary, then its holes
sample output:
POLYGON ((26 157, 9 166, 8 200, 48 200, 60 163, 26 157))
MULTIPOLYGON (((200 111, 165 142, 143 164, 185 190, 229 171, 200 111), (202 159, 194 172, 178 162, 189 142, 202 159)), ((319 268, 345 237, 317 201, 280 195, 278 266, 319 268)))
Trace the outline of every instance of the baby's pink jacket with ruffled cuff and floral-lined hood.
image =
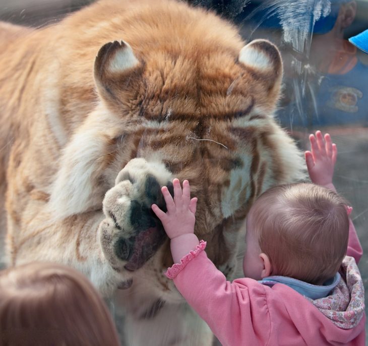
POLYGON ((330 296, 315 301, 282 283, 226 281, 203 251, 205 244, 167 276, 223 346, 365 345, 364 289, 355 263, 362 249, 351 221, 343 279, 330 296))

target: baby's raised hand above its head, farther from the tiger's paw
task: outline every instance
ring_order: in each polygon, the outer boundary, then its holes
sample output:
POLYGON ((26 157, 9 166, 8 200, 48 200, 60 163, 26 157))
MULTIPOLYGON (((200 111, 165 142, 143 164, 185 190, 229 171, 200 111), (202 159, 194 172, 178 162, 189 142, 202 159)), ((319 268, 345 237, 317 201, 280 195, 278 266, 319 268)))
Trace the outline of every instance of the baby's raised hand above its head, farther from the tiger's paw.
POLYGON ((328 133, 323 137, 321 131, 316 132, 316 137, 310 135, 309 140, 311 151, 305 151, 309 176, 313 183, 330 187, 337 156, 336 144, 332 144, 328 133))

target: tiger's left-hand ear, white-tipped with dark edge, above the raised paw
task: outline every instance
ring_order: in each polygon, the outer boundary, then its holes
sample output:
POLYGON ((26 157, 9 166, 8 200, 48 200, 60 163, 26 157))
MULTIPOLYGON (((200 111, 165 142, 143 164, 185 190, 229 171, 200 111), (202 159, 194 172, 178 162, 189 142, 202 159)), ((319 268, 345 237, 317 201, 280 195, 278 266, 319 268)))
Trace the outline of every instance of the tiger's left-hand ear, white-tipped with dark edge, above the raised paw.
POLYGON ((102 98, 124 101, 126 92, 141 79, 143 64, 125 41, 104 44, 96 56, 94 77, 102 98))

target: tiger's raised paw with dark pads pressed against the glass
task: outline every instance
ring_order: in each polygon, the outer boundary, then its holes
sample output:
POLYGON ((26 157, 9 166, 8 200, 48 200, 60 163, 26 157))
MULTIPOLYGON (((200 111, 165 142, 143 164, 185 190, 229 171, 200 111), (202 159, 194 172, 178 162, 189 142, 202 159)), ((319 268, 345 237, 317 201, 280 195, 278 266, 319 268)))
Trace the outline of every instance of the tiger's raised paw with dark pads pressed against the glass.
POLYGON ((104 255, 115 270, 139 269, 167 239, 151 205, 156 203, 165 210, 160 190, 164 185, 172 189, 171 178, 162 163, 134 158, 106 192, 106 218, 100 224, 99 236, 104 255))

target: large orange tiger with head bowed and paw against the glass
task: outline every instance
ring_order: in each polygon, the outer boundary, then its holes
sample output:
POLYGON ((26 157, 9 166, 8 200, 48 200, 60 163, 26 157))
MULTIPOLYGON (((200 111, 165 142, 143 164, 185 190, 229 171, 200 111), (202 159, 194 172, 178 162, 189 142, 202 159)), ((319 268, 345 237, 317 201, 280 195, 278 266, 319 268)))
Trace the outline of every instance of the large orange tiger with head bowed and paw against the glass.
POLYGON ((117 296, 131 346, 211 345, 164 274, 169 241, 151 205, 188 179, 195 232, 234 278, 254 200, 305 177, 274 117, 278 48, 176 0, 100 0, 37 29, 1 23, 0 41, 7 265, 80 270, 117 296))

